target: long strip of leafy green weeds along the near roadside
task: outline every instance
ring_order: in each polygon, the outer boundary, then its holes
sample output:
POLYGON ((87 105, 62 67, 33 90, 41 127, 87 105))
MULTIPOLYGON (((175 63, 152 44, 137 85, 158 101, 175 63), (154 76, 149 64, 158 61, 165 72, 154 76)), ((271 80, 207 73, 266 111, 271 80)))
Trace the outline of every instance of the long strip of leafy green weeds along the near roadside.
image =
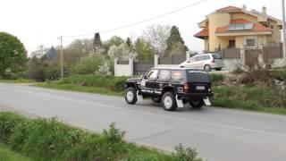
MULTIPOLYGON (((102 134, 72 128, 53 119, 26 119, 18 114, 0 113, 1 132, 14 151, 35 160, 173 160, 174 157, 127 143, 124 132, 114 123, 102 134)), ((0 151, 1 152, 1 151, 0 151)))

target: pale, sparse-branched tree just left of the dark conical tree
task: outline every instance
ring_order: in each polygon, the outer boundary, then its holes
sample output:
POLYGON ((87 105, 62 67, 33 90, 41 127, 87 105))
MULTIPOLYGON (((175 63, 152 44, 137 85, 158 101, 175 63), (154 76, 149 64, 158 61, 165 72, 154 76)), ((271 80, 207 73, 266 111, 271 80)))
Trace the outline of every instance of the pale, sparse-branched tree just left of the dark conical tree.
POLYGON ((143 36, 154 47, 156 54, 164 56, 170 31, 171 26, 169 25, 151 25, 144 31, 143 36))

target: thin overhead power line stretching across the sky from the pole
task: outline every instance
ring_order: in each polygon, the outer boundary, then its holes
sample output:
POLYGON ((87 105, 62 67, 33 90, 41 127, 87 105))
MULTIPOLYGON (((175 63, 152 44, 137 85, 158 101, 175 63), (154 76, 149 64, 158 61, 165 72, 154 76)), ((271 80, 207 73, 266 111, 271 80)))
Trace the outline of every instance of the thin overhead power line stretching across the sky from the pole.
MULTIPOLYGON (((114 30, 122 30, 122 29, 125 29, 125 28, 129 28, 131 26, 135 26, 135 25, 139 25, 141 23, 145 23, 147 21, 154 21, 156 19, 160 19, 160 18, 162 18, 164 16, 167 16, 167 15, 170 15, 172 13, 178 13, 178 12, 181 12, 182 10, 185 10, 185 9, 189 8, 189 7, 192 7, 192 6, 195 6, 195 5, 198 5, 198 4, 202 4, 205 1, 207 1, 207 0, 201 0, 201 1, 198 1, 197 3, 189 4, 187 6, 184 6, 184 7, 181 7, 179 9, 173 10, 173 11, 171 11, 169 13, 160 14, 160 15, 157 15, 155 17, 151 17, 149 19, 143 20, 143 21, 137 21, 137 22, 133 22, 133 23, 130 23, 130 24, 126 24, 126 25, 120 26, 118 28, 108 29, 108 30, 101 30, 101 31, 97 31, 97 32, 99 32, 99 33, 106 33, 106 32, 110 32, 110 31, 114 31, 114 30)), ((77 37, 84 37, 84 36, 93 35, 93 34, 95 34, 95 32, 94 33, 82 34, 82 35, 66 36, 66 37, 63 37, 63 38, 77 38, 77 37)))

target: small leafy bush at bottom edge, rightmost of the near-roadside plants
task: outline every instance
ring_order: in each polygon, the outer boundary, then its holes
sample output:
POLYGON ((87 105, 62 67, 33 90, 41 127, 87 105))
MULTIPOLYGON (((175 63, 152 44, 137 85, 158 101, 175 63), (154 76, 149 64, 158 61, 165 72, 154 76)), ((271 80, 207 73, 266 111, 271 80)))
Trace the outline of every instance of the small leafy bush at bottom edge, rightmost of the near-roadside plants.
POLYGON ((192 148, 183 148, 181 144, 175 147, 174 157, 175 160, 180 161, 202 161, 198 158, 198 153, 196 149, 192 148))

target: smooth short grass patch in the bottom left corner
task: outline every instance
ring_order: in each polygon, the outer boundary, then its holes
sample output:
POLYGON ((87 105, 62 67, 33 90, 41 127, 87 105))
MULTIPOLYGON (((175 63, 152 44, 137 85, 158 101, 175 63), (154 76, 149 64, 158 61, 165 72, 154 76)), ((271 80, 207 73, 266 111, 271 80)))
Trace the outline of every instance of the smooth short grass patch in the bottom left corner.
POLYGON ((0 160, 3 161, 31 161, 28 157, 23 157, 20 154, 13 152, 4 144, 0 144, 0 160))

